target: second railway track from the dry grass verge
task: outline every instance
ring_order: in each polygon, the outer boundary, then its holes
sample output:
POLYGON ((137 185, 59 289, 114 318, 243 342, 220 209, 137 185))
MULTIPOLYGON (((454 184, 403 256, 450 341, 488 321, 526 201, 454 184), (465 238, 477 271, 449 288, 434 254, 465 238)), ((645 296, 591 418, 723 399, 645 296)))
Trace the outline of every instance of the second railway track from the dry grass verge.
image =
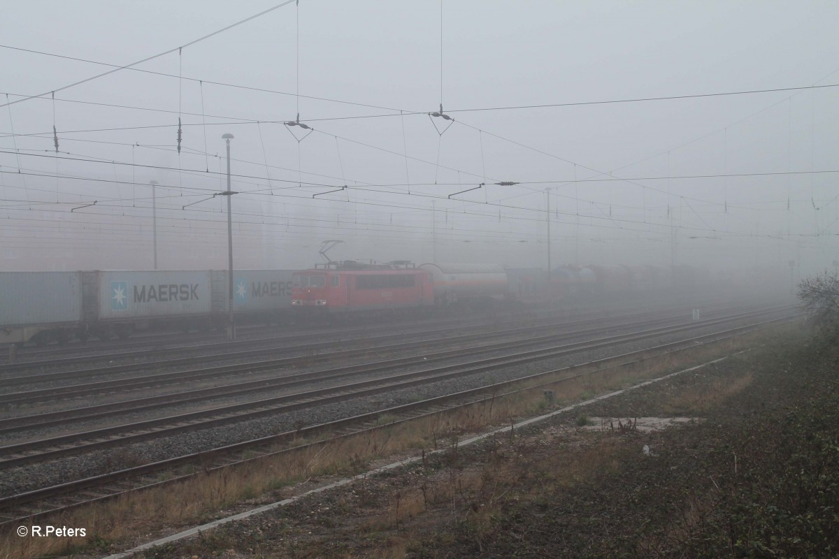
MULTIPOLYGON (((529 339, 526 341, 517 340, 505 341, 496 344, 482 344, 466 349, 449 349, 427 356, 414 355, 396 360, 384 360, 365 365, 350 365, 331 370, 290 375, 289 377, 276 380, 276 385, 279 387, 290 388, 310 384, 313 381, 342 380, 347 377, 364 374, 381 375, 382 373, 386 373, 388 370, 393 370, 395 368, 402 369, 407 365, 424 366, 424 368, 420 370, 399 373, 398 375, 376 376, 375 378, 368 380, 355 380, 349 384, 329 386, 326 388, 318 388, 299 393, 286 394, 283 396, 274 396, 257 401, 246 401, 227 406, 214 407, 207 410, 181 413, 175 416, 159 417, 141 422, 130 422, 122 425, 72 433, 59 437, 43 438, 26 443, 9 444, 0 447, 0 457, 2 457, 0 458, 0 469, 20 466, 26 463, 39 462, 46 459, 61 458, 70 454, 91 452, 92 450, 101 448, 112 448, 152 438, 165 437, 180 432, 218 427, 220 425, 233 422, 246 421, 255 417, 288 413, 290 411, 305 409, 313 404, 320 406, 333 401, 341 401, 352 397, 373 396, 383 391, 393 391, 404 389, 409 386, 415 386, 417 384, 446 380, 452 375, 471 375, 477 372, 485 372, 486 370, 498 367, 499 365, 522 365, 534 360, 571 355, 573 353, 589 349, 607 347, 619 342, 650 339, 662 334, 675 334, 690 329, 696 329, 697 326, 700 325, 709 326, 719 323, 727 323, 735 319, 763 316, 764 314, 771 312, 774 312, 774 309, 756 313, 738 313, 724 318, 701 321, 701 323, 687 323, 676 327, 673 325, 667 325, 653 329, 646 329, 641 332, 611 335, 595 340, 586 339, 556 347, 530 349, 524 352, 520 351, 520 349, 534 345, 538 346, 549 344, 555 341, 555 337, 542 336, 537 339, 529 339), (438 365, 432 368, 427 368, 427 365, 431 365, 439 361, 462 359, 471 355, 494 353, 507 349, 512 349, 516 351, 516 353, 493 356, 474 361, 458 362, 453 365, 438 365)), ((578 337, 602 334, 602 331, 603 329, 593 329, 585 334, 579 334, 578 337)), ((139 403, 135 409, 143 408, 145 406, 145 403, 139 403)), ((117 411, 117 413, 121 412, 122 411, 117 411)), ((98 416, 102 413, 102 411, 97 410, 95 413, 98 416)), ((89 416, 86 417, 81 415, 81 420, 89 418, 89 416)), ((35 422, 37 422, 39 418, 30 417, 29 419, 30 421, 34 419, 35 422)), ((52 421, 60 422, 61 420, 58 417, 55 417, 52 421)), ((68 417, 64 421, 70 421, 70 418, 68 417)), ((28 428, 30 425, 33 425, 33 423, 21 424, 18 420, 17 426, 8 428, 15 431, 21 428, 28 428)), ((41 424, 41 426, 43 426, 43 424, 41 424)), ((34 423, 34 427, 39 427, 39 425, 34 423)))

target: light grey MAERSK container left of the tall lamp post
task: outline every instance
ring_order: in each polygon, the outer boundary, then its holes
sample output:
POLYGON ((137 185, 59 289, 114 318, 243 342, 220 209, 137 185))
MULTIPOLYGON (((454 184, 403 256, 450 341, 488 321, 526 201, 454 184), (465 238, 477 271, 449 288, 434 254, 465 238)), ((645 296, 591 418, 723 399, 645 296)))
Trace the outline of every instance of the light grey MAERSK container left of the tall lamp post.
POLYGON ((101 321, 192 317, 211 312, 211 272, 107 270, 86 288, 96 290, 101 321), (92 284, 92 285, 91 285, 92 284))

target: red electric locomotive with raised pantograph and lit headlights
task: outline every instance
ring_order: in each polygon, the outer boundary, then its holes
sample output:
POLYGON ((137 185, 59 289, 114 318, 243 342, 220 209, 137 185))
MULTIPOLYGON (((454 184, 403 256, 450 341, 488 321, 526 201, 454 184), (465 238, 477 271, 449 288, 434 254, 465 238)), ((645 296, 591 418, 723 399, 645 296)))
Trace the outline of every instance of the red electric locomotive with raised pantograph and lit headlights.
POLYGON ((343 313, 434 304, 431 274, 409 262, 330 262, 294 272, 291 306, 298 312, 343 313))

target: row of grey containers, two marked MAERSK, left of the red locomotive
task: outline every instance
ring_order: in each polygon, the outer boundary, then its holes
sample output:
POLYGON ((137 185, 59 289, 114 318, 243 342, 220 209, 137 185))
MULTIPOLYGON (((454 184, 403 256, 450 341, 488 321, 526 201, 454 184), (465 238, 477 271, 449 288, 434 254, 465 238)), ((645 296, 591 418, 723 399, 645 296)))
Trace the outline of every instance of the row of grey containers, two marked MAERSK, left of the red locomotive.
MULTIPOLYGON (((282 319, 292 272, 234 271, 237 319, 282 319)), ((226 323, 228 301, 226 271, 0 272, 0 344, 208 329, 226 323)))

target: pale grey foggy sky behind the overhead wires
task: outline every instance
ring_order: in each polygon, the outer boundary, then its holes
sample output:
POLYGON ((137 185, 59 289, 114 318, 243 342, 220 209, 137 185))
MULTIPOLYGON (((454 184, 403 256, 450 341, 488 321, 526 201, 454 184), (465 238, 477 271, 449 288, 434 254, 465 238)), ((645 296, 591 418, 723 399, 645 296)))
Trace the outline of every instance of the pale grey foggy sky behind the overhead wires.
POLYGON ((837 3, 278 5, 7 3, 0 270, 836 267, 837 3))

